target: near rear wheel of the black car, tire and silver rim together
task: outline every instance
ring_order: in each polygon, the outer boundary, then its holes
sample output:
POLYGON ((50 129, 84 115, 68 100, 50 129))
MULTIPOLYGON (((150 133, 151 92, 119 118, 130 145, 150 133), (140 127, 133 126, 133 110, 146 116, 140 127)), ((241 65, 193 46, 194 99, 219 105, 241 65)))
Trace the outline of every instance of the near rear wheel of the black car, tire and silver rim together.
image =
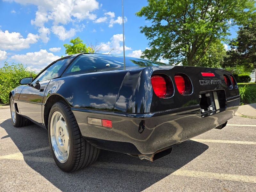
POLYGON ((65 172, 72 172, 95 162, 100 149, 84 140, 69 105, 56 102, 48 120, 49 143, 56 164, 65 172))

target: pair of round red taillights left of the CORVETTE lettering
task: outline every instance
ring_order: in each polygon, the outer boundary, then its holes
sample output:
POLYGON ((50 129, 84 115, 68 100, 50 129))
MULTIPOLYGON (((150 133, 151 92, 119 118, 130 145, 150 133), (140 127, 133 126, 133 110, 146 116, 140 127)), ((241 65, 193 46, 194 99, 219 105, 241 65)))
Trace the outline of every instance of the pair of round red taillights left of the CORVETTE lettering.
MULTIPOLYGON (((174 76, 174 81, 181 95, 192 93, 192 84, 187 75, 178 73, 174 76)), ((151 76, 151 84, 157 97, 169 98, 174 94, 172 80, 167 75, 155 74, 151 76)))

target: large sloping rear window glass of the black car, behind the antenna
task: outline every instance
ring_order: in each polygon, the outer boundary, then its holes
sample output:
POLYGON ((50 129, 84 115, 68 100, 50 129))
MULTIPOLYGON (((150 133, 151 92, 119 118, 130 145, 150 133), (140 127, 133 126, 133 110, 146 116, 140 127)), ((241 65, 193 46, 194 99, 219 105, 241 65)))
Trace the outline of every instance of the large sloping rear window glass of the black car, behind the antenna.
MULTIPOLYGON (((83 54, 79 55, 68 66, 64 75, 74 75, 99 70, 123 68, 123 57, 105 54, 83 54)), ((156 61, 125 57, 125 67, 148 67, 168 65, 156 61)))

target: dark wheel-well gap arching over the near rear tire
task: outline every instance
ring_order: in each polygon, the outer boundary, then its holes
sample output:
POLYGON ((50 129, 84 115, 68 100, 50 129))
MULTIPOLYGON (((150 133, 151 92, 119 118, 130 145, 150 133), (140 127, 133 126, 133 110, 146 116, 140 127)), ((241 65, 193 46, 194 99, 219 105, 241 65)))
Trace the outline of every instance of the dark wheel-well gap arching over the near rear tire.
POLYGON ((44 124, 45 124, 46 129, 48 129, 48 119, 49 119, 50 110, 51 110, 52 106, 54 105, 54 103, 56 103, 58 101, 64 101, 64 102, 68 103, 60 95, 54 94, 47 99, 47 101, 44 105, 44 124))

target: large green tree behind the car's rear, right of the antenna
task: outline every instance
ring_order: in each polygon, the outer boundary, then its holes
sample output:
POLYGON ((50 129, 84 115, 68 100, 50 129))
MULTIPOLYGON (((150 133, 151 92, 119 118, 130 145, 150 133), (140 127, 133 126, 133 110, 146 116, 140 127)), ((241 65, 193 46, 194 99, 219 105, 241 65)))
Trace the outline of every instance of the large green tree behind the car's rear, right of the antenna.
POLYGON ((225 40, 230 26, 246 22, 253 10, 254 0, 148 0, 136 13, 152 22, 141 27, 150 46, 142 57, 196 66, 213 42, 225 40))

